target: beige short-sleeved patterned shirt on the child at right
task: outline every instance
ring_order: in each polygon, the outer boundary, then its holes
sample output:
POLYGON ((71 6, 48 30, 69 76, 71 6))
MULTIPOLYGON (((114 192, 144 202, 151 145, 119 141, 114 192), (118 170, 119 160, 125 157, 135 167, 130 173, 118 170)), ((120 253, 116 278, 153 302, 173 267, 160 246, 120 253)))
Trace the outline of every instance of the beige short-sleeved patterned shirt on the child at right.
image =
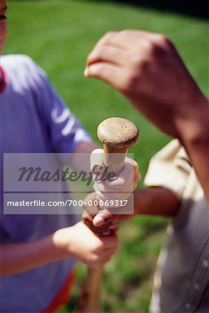
POLYGON ((178 140, 151 159, 145 184, 168 188, 182 200, 157 262, 150 313, 208 313, 209 208, 178 140))

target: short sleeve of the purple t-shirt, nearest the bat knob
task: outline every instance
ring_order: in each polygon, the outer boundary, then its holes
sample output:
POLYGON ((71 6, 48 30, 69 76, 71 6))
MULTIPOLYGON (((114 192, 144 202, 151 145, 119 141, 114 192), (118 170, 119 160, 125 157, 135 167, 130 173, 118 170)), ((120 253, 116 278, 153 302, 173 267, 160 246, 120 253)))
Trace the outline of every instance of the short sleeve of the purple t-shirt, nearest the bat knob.
MULTIPOLYGON (((31 65, 34 105, 52 150, 59 154, 75 151, 84 142, 91 142, 91 136, 50 83, 47 74, 36 63, 31 65)), ((62 161, 66 163, 68 156, 62 161)))

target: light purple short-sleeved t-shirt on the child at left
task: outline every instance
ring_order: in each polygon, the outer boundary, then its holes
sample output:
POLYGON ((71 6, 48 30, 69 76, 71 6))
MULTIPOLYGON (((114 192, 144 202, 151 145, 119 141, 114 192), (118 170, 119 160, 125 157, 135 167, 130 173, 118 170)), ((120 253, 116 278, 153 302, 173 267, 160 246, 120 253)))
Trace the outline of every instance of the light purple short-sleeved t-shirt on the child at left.
MULTIPOLYGON (((1 56, 1 67, 7 81, 0 95, 1 173, 3 153, 70 153, 79 143, 91 141, 45 72, 31 58, 1 56)), ((1 174, 1 244, 40 239, 78 220, 76 215, 3 215, 1 174)), ((71 258, 1 278, 0 311, 44 310, 61 289, 73 264, 71 258)))

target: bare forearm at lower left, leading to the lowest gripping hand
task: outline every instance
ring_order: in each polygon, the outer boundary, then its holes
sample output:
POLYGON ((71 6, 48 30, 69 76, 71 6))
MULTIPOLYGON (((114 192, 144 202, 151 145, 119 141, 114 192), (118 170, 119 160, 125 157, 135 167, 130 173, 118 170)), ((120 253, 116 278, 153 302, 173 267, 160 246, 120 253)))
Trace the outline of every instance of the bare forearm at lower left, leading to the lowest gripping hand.
POLYGON ((66 257, 53 235, 37 241, 1 245, 1 275, 12 275, 66 257))

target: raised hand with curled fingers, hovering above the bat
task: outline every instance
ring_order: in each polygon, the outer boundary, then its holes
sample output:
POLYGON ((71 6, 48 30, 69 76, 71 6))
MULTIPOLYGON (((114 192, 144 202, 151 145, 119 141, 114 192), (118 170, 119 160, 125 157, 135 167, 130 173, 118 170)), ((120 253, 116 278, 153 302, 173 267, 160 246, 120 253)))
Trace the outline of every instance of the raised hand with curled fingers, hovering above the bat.
POLYGON ((191 120, 189 131, 196 131, 195 121, 205 119, 208 102, 165 35, 109 32, 89 54, 84 73, 109 83, 159 129, 176 138, 191 120))

